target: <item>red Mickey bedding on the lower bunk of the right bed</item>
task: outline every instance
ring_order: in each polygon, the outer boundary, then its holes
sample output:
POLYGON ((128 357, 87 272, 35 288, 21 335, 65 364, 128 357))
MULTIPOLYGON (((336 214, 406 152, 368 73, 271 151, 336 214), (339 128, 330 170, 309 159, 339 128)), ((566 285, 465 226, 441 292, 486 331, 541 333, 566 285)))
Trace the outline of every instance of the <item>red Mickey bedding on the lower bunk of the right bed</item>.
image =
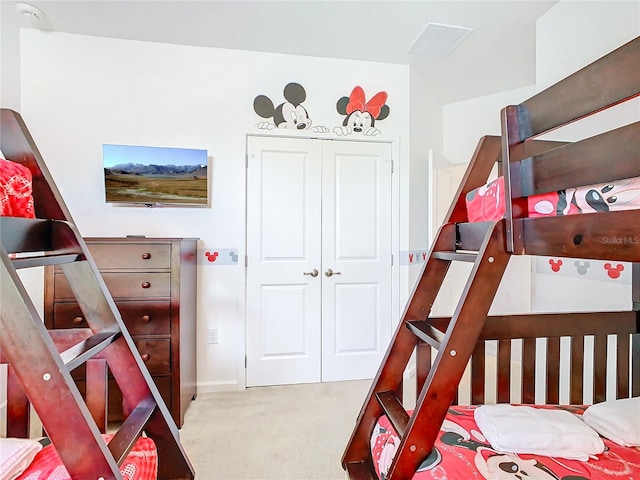
MULTIPOLYGON (((605 452, 588 462, 555 457, 497 452, 480 433, 476 407, 451 407, 436 439, 434 453, 413 480, 637 480, 640 449, 622 447, 604 439, 605 452)), ((583 407, 560 407, 581 414, 583 407)), ((526 432, 523 433, 526 435, 526 432)), ((384 480, 399 438, 386 417, 381 417, 371 437, 376 474, 384 480)))

